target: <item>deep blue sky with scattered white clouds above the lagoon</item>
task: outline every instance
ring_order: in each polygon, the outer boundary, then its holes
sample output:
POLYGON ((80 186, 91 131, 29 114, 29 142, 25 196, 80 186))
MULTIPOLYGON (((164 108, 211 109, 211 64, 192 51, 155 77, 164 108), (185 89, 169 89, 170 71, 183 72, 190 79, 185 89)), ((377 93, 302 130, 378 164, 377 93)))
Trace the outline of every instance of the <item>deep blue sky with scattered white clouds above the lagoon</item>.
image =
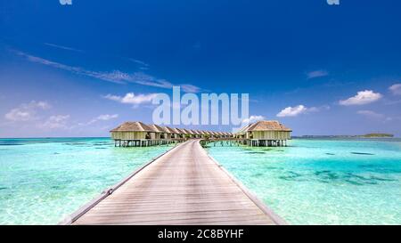
POLYGON ((151 123, 151 94, 172 85, 250 93, 253 118, 296 135, 399 136, 400 9, 396 0, 0 0, 0 137, 151 123))

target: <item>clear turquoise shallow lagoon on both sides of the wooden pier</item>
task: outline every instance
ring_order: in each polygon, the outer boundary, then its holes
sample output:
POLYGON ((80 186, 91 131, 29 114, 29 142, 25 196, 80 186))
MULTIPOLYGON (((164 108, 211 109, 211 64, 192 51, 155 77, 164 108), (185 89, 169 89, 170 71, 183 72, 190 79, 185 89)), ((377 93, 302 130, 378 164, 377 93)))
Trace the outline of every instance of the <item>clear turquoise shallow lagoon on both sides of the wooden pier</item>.
MULTIPOLYGON (((209 154, 295 224, 400 224, 401 141, 292 140, 209 154)), ((170 147, 1 139, 0 224, 54 224, 170 147)))

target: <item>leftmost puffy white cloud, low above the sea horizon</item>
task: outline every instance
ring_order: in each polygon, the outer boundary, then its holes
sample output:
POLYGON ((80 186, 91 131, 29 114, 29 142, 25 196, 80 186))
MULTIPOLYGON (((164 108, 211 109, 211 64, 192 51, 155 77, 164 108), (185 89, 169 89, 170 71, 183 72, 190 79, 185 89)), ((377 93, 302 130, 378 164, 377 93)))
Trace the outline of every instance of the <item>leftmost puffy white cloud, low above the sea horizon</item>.
POLYGON ((17 122, 35 120, 38 109, 49 109, 50 107, 50 104, 45 101, 30 101, 28 104, 20 104, 18 108, 10 110, 4 117, 17 122))

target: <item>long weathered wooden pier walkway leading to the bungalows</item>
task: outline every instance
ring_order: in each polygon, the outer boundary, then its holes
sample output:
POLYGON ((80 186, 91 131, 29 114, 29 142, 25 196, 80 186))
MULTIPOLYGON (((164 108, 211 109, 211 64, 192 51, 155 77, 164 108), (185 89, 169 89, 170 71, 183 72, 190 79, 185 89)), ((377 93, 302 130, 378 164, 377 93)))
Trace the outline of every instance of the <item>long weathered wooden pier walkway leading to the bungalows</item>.
POLYGON ((210 158, 199 140, 177 145, 79 212, 68 223, 285 223, 210 158))

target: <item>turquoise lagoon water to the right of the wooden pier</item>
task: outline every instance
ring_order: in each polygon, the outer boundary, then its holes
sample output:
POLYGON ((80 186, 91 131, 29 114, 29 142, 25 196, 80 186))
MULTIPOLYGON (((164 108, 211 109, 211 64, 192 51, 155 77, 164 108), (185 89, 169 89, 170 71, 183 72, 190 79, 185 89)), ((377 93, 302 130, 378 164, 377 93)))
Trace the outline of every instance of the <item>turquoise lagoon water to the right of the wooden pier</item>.
POLYGON ((401 224, 400 140, 306 140, 209 154, 293 224, 401 224))

